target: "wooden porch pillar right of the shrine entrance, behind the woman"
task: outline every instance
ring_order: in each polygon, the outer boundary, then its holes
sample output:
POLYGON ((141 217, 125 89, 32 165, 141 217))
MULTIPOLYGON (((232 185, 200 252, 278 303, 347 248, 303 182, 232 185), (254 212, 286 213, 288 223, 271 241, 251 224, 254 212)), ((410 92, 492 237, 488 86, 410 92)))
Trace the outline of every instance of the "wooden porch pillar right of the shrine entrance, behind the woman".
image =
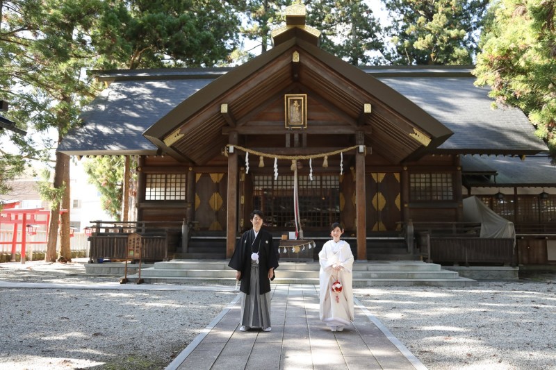
MULTIPOLYGON (((363 131, 355 134, 355 144, 364 145, 363 131)), ((367 260, 367 218, 365 214, 365 152, 357 150, 355 154, 355 215, 357 217, 357 260, 367 260)))

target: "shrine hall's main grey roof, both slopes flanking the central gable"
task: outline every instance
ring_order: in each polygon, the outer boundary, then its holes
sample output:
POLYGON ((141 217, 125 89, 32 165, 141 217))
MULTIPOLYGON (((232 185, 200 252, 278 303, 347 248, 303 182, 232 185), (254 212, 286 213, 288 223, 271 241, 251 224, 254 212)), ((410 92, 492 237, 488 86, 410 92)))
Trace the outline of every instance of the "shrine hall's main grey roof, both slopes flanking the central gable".
MULTIPOLYGON (((492 108, 489 89, 473 85, 472 67, 366 67, 364 70, 454 133, 437 152, 530 154, 546 150, 523 112, 492 108)), ((102 72, 101 81, 113 82, 83 111, 84 126, 70 132, 58 150, 70 155, 154 154, 156 146, 142 133, 189 96, 229 71, 229 68, 211 68, 102 72)))

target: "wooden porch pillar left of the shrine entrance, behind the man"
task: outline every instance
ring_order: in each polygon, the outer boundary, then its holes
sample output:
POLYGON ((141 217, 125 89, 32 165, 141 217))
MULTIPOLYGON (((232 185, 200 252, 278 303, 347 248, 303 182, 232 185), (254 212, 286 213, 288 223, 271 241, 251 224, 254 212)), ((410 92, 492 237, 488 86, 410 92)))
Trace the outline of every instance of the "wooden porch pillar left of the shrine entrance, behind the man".
MULTIPOLYGON (((229 144, 238 144, 238 133, 229 133, 229 144)), ((231 258, 236 248, 238 228, 238 155, 236 150, 228 154, 228 207, 226 226, 226 258, 231 258)))

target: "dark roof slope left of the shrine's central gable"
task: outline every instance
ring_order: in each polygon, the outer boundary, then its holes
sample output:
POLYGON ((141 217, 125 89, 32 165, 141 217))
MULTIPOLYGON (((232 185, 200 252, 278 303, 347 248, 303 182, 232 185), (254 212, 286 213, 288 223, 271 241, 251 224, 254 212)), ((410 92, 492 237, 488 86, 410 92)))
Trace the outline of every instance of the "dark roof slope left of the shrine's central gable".
POLYGON ((154 154, 158 148, 142 133, 211 81, 115 81, 83 110, 83 127, 68 133, 58 151, 70 155, 154 154))

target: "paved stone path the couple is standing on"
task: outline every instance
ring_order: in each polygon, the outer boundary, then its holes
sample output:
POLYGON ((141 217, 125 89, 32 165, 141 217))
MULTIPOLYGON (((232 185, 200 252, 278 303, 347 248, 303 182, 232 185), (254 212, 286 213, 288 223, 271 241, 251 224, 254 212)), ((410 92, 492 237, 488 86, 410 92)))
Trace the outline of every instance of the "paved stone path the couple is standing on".
POLYGON ((271 332, 240 332, 239 317, 238 295, 166 369, 427 369, 357 299, 354 323, 332 333, 315 285, 272 285, 271 332))

